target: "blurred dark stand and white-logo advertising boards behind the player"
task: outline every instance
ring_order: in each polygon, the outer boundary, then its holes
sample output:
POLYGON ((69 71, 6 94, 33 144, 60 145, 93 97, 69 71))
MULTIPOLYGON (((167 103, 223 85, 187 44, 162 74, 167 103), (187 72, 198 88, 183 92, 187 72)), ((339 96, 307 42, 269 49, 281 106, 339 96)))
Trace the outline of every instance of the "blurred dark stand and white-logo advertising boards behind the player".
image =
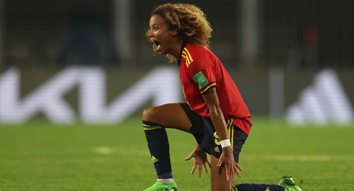
MULTIPOLYGON (((0 123, 119 123, 183 102, 177 64, 145 37, 164 2, 1 0, 0 123)), ((181 2, 206 13, 211 50, 251 115, 353 124, 350 1, 181 2)))

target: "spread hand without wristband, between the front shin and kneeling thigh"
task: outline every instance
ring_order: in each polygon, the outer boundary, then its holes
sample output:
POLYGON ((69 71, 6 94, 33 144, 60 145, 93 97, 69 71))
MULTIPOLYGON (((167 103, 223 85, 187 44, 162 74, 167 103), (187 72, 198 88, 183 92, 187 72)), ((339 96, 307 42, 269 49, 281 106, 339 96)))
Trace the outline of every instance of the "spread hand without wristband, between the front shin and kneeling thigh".
POLYGON ((209 172, 206 164, 209 164, 210 167, 211 163, 209 161, 208 154, 202 150, 202 147, 200 145, 197 145, 196 148, 192 151, 192 153, 184 160, 188 161, 192 157, 194 157, 194 165, 192 167, 192 171, 190 172, 190 174, 194 173, 197 165, 199 165, 199 177, 201 177, 202 166, 204 166, 206 173, 209 172))

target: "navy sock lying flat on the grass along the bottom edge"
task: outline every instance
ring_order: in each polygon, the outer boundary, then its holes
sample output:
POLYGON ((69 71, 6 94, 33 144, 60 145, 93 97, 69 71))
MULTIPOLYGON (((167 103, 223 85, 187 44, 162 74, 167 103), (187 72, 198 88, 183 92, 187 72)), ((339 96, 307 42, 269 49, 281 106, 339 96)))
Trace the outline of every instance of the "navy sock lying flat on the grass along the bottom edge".
POLYGON ((231 191, 284 191, 285 189, 276 184, 238 184, 231 191), (236 187, 237 190, 234 189, 236 187), (234 189, 234 190, 233 190, 234 189))

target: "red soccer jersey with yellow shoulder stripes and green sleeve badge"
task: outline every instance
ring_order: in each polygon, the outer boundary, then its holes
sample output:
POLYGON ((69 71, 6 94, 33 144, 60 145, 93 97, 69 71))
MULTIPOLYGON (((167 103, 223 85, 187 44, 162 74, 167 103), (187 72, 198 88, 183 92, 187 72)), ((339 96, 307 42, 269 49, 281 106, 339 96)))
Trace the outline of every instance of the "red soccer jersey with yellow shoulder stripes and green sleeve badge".
POLYGON ((178 61, 183 93, 190 108, 195 113, 210 118, 202 94, 207 89, 216 87, 224 118, 234 119, 233 123, 248 135, 252 126, 250 112, 220 60, 203 46, 184 43, 178 61))

